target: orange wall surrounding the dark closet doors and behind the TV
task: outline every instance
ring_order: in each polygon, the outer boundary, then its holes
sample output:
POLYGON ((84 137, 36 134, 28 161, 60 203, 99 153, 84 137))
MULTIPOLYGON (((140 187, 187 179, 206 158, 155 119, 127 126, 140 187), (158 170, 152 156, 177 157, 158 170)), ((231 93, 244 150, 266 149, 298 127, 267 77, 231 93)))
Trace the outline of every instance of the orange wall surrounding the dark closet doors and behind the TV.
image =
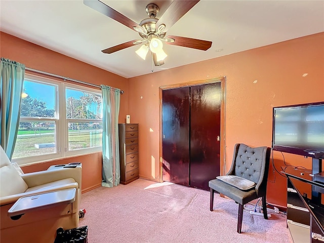
MULTIPOLYGON (((235 143, 271 147, 272 107, 324 101, 323 43, 324 33, 319 33, 130 78, 132 92, 128 96, 128 107, 132 123, 139 123, 140 176, 159 178, 159 86, 227 77, 225 153, 228 170, 235 143), (304 73, 308 75, 303 77, 304 73)), ((310 166, 310 159, 285 156, 288 164, 310 166)), ((274 152, 274 158, 275 168, 280 170, 281 154, 274 152)), ((268 203, 286 205, 286 193, 286 179, 274 173, 271 166, 268 203)))

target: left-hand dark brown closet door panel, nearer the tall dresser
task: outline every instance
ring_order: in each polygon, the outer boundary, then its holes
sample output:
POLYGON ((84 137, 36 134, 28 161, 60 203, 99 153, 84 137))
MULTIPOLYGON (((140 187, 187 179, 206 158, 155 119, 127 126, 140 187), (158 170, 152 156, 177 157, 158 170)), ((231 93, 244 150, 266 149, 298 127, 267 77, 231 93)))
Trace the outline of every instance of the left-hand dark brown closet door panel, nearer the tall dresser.
POLYGON ((162 179, 189 186, 189 87, 162 95, 162 179))

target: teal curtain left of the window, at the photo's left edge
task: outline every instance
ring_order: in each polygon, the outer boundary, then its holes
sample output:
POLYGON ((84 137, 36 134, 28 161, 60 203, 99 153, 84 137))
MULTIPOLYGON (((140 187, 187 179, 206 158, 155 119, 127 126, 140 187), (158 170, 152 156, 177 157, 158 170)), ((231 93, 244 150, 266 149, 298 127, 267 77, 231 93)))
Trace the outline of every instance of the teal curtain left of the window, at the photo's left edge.
POLYGON ((19 127, 25 65, 1 58, 0 75, 0 145, 11 159, 19 127))

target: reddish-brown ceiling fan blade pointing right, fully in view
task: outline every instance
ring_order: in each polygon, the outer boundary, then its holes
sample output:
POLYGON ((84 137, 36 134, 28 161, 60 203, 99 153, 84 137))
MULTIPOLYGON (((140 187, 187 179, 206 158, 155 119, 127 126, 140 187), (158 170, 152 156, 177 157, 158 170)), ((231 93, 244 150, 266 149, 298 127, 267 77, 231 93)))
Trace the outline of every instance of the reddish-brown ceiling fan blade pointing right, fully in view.
POLYGON ((181 37, 176 35, 168 35, 167 38, 174 39, 174 42, 166 42, 169 45, 181 46, 181 47, 188 47, 198 50, 207 51, 211 48, 212 42, 203 41, 202 39, 193 39, 188 37, 181 37))

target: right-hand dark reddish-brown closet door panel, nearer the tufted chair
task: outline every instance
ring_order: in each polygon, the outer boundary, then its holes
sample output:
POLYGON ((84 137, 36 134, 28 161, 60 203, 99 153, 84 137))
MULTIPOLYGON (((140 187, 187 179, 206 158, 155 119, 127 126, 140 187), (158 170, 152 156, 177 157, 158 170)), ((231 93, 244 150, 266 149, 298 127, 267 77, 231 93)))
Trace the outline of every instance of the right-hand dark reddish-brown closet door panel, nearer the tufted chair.
POLYGON ((209 190, 220 175, 220 83, 190 87, 190 186, 209 190))

